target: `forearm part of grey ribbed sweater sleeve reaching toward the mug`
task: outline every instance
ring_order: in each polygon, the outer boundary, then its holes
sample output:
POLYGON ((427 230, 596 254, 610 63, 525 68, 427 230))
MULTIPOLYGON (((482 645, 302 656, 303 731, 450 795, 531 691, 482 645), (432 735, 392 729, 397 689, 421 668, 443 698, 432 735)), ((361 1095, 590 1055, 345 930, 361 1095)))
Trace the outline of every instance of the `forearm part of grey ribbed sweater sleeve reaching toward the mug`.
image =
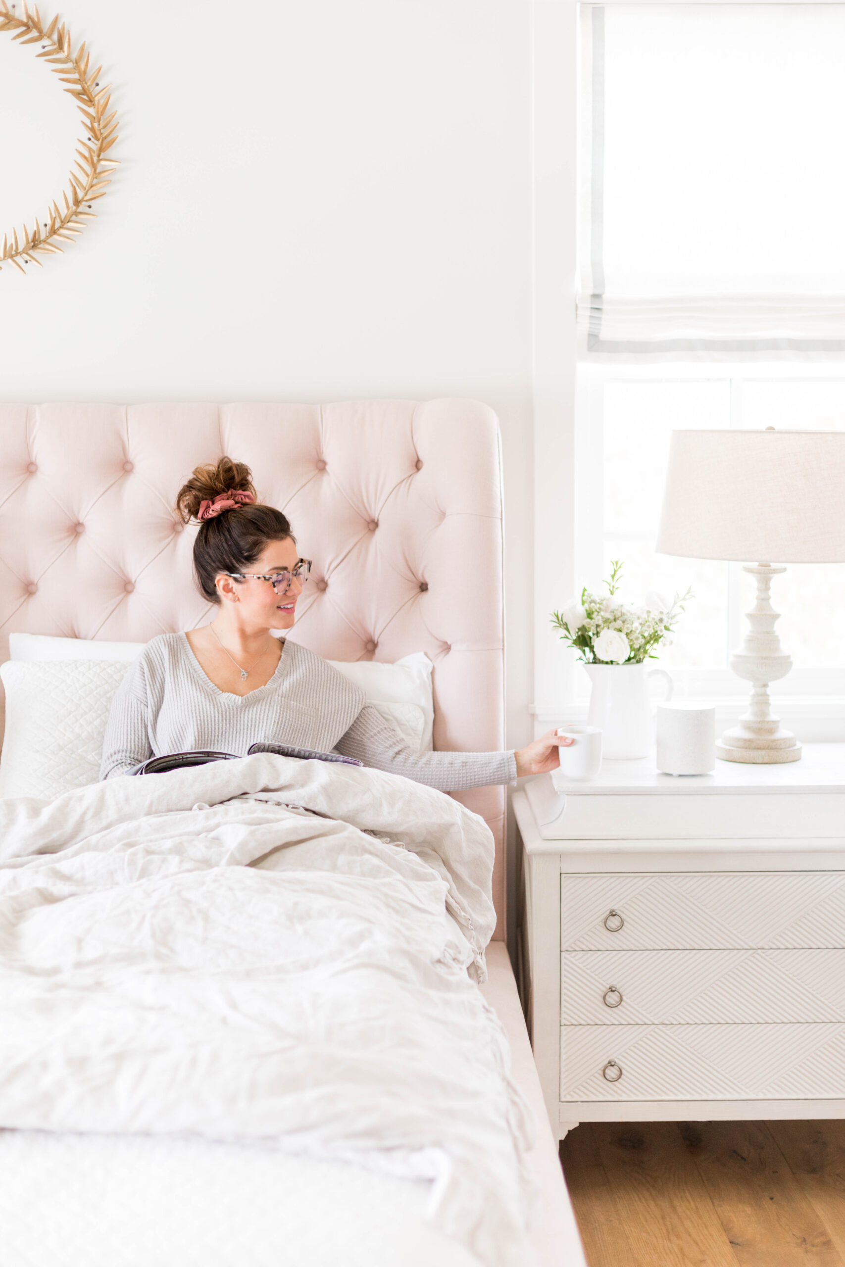
POLYGON ((441 792, 517 782, 513 753, 414 753, 371 704, 364 706, 336 748, 342 756, 441 792))

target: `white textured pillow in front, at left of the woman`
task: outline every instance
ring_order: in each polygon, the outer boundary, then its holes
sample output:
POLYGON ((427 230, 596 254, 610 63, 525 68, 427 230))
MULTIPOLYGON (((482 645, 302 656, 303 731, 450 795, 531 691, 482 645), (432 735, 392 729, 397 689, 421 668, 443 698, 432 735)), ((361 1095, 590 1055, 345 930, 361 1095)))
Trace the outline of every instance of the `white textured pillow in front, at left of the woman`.
POLYGON ((96 783, 111 696, 125 673, 125 660, 0 665, 6 688, 0 797, 48 801, 96 783))

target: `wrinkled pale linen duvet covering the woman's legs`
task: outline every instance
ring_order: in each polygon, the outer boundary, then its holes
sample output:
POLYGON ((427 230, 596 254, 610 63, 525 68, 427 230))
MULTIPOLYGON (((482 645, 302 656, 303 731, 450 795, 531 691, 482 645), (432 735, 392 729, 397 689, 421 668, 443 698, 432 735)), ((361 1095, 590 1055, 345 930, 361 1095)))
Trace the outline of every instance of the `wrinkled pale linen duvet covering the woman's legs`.
POLYGON ((0 1126, 428 1178, 438 1230, 526 1267, 492 868, 450 797, 270 754, 0 802, 0 1126))

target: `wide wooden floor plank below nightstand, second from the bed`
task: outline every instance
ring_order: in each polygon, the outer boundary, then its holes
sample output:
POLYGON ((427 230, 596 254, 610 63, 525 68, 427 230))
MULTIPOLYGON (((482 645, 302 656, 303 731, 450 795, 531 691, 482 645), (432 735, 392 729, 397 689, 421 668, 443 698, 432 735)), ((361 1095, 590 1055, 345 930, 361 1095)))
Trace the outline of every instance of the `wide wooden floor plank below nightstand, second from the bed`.
POLYGON ((593 1123, 593 1134, 630 1245, 607 1267, 737 1267, 675 1123, 593 1123))

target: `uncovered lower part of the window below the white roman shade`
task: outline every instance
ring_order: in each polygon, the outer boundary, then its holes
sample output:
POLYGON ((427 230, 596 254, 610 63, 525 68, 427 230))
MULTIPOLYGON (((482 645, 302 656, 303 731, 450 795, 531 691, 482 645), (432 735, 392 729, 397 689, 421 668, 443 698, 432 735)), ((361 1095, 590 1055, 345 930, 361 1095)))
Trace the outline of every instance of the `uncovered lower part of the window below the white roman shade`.
MULTIPOLYGON (((680 427, 844 431, 845 365, 823 378, 811 366, 581 365, 579 380, 578 459, 588 478, 578 485, 578 575, 595 584, 621 559, 623 595, 632 599, 692 585, 660 663, 689 694, 744 694, 728 655, 745 632, 753 579, 739 564, 654 549, 669 437, 680 427)), ((794 665, 777 693, 845 696, 845 565, 791 565, 773 583, 773 602, 794 665)))

